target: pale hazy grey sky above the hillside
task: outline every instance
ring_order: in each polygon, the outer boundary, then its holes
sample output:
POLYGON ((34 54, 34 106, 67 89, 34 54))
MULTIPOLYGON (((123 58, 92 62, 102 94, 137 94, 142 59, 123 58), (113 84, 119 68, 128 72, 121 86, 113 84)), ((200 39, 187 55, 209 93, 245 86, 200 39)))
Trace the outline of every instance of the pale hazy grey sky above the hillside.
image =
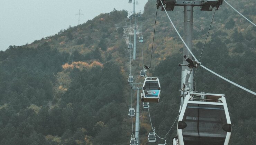
MULTIPOLYGON (((136 11, 143 11, 148 0, 138 0, 136 11)), ((133 10, 128 0, 0 0, 0 50, 10 45, 25 45, 34 40, 54 35, 61 29, 81 23, 100 13, 133 10)))

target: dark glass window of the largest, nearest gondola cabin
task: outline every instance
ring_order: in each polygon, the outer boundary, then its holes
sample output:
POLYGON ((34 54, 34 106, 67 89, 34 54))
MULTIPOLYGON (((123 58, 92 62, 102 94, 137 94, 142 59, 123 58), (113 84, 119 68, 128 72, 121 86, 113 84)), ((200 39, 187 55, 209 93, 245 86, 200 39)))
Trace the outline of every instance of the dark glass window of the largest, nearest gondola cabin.
POLYGON ((225 110, 220 105, 188 104, 183 116, 182 129, 185 145, 223 145, 227 132, 225 110))

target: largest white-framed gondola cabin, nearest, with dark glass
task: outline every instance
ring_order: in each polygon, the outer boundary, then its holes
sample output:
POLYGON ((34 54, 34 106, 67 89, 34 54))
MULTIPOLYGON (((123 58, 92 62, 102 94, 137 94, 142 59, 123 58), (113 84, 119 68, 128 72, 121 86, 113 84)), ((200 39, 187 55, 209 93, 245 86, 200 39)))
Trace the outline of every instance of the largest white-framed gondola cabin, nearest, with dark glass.
POLYGON ((225 95, 188 93, 174 145, 229 145, 231 122, 225 95))

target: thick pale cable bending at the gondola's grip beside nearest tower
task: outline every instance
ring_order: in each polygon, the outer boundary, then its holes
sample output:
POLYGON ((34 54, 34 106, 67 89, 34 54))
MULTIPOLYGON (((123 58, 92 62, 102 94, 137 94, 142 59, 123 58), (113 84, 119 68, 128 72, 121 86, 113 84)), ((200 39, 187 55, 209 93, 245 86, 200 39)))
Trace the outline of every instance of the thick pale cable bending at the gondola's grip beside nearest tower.
POLYGON ((243 89, 243 90, 245 90, 245 91, 247 91, 247 92, 249 92, 249 93, 251 93, 251 94, 253 94, 253 95, 256 96, 256 93, 255 93, 254 91, 249 90, 249 89, 247 89, 247 88, 245 88, 245 87, 243 87, 243 86, 240 86, 240 85, 234 83, 233 81, 231 81, 231 80, 229 80, 229 79, 227 79, 227 78, 225 78, 225 77, 222 77, 221 75, 217 74, 216 72, 214 72, 214 71, 208 69, 207 67, 201 65, 201 63, 196 59, 196 57, 194 56, 194 54, 192 53, 192 51, 189 49, 189 47, 186 45, 185 41, 182 39, 182 37, 181 37, 180 33, 178 32, 178 30, 177 30, 176 27, 174 26, 174 24, 173 24, 173 22, 172 22, 170 16, 168 15, 168 13, 167 13, 167 11, 166 11, 166 9, 165 9, 165 7, 164 7, 164 4, 163 4, 162 0, 160 0, 160 1, 161 1, 162 6, 163 6, 163 8, 164 8, 164 10, 165 10, 165 13, 167 14, 167 17, 169 18, 170 22, 172 23, 172 25, 173 25, 175 31, 177 32, 177 34, 178 34, 179 37, 181 38, 181 40, 182 40, 182 42, 184 43, 184 45, 186 46, 186 48, 189 50, 190 54, 194 57, 195 61, 197 61, 197 62, 200 64, 200 66, 202 66, 204 69, 210 71, 212 74, 214 74, 214 75, 216 75, 216 76, 222 78, 223 80, 226 80, 227 82, 229 82, 229 83, 231 83, 231 84, 233 84, 233 85, 235 85, 235 86, 237 86, 237 87, 239 87, 239 88, 241 88, 241 89, 243 89))

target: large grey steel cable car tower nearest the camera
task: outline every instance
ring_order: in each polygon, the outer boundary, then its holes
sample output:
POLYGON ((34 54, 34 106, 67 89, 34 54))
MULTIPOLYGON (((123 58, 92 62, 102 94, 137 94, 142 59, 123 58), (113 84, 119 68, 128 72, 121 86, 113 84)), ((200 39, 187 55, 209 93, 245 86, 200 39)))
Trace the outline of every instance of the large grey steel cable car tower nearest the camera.
MULTIPOLYGON (((193 7, 200 7, 201 11, 212 11, 213 7, 216 7, 217 10, 222 4, 222 0, 156 0, 157 9, 161 7, 162 11, 173 11, 175 6, 184 7, 184 41, 186 45, 192 51, 192 39, 193 39, 193 7), (164 7, 162 6, 162 3, 164 7)), ((184 46, 183 47, 184 56, 192 56, 189 50, 184 46)), ((189 77, 188 82, 186 82, 186 76, 189 73, 190 76, 193 76, 193 69, 189 71, 189 63, 183 58, 182 72, 181 72, 181 88, 183 84, 186 85, 187 90, 192 91, 193 88, 193 78, 189 77)), ((181 93, 182 95, 182 93, 181 93)), ((181 100, 183 102, 183 100, 181 100)), ((181 106, 182 107, 182 106, 181 106)))

